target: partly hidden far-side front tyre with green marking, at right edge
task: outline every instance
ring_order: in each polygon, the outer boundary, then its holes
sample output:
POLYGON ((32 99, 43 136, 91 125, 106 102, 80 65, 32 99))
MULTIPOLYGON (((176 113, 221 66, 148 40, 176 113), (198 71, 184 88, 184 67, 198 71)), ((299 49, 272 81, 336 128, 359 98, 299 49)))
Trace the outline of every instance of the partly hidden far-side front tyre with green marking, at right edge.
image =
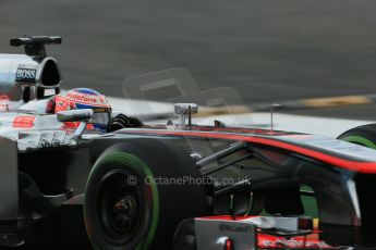
POLYGON ((338 139, 376 149, 376 124, 352 128, 340 135, 338 139))

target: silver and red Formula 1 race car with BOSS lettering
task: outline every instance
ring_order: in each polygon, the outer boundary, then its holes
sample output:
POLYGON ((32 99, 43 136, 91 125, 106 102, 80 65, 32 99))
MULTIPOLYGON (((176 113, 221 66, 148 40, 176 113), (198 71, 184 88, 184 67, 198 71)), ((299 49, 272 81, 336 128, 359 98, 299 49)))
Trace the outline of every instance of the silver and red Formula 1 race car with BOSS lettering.
POLYGON ((1 247, 376 249, 375 125, 344 141, 198 126, 178 103, 177 124, 93 133, 93 110, 46 111, 61 77, 45 45, 0 54, 1 247))

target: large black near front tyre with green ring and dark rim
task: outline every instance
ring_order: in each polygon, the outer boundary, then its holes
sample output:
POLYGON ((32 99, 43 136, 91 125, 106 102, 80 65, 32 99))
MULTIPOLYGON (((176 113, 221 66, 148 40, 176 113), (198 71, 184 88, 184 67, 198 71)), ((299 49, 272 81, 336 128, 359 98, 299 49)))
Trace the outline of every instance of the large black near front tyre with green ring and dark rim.
POLYGON ((178 224, 207 209, 204 186, 178 184, 184 178, 202 176, 190 155, 169 142, 137 139, 110 147, 86 185, 84 216, 92 245, 171 249, 178 224))

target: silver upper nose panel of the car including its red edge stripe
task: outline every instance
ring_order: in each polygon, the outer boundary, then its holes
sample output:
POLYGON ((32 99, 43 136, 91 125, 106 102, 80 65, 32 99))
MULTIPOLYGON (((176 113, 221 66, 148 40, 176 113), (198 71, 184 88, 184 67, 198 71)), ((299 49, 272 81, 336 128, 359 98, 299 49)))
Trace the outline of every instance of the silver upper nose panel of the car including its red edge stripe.
POLYGON ((260 132, 262 133, 256 132, 255 134, 235 134, 227 132, 222 133, 218 130, 197 132, 174 129, 124 129, 118 132, 118 134, 149 134, 159 136, 185 136, 209 139, 227 139, 234 141, 248 141, 252 143, 260 143, 290 150, 329 164, 333 164, 339 167, 343 167, 345 170, 376 174, 376 151, 372 149, 323 136, 302 134, 287 135, 288 133, 283 132, 276 132, 279 133, 276 136, 265 136, 265 134, 269 132, 260 132))

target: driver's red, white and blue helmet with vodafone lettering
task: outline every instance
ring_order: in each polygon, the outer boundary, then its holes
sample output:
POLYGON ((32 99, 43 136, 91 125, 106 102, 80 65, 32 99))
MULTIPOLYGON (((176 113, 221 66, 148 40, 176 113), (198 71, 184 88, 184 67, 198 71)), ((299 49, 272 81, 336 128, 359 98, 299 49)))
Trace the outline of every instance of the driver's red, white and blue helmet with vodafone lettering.
MULTIPOLYGON (((106 132, 111 118, 111 105, 107 98, 89 88, 75 88, 60 93, 54 99, 54 113, 66 110, 92 109, 94 114, 88 128, 106 132)), ((80 122, 64 123, 69 128, 76 128, 80 122)))

